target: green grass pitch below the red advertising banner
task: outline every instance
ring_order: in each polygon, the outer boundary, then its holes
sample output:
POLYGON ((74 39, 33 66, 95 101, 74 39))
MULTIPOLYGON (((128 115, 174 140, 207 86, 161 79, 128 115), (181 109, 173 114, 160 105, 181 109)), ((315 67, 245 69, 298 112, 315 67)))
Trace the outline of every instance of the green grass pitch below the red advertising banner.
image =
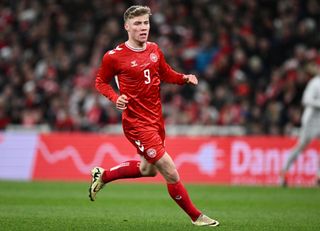
POLYGON ((320 230, 319 188, 186 185, 220 226, 195 227, 163 184, 0 181, 0 230, 320 230))

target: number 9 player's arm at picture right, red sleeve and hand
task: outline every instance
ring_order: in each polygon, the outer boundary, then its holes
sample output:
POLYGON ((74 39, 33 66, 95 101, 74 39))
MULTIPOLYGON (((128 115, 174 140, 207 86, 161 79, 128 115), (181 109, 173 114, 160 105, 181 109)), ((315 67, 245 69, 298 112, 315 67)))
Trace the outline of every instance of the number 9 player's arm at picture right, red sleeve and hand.
POLYGON ((173 70, 170 65, 166 62, 162 51, 158 48, 159 53, 159 74, 161 81, 167 83, 175 83, 175 84, 198 84, 198 79, 195 75, 185 75, 173 70))

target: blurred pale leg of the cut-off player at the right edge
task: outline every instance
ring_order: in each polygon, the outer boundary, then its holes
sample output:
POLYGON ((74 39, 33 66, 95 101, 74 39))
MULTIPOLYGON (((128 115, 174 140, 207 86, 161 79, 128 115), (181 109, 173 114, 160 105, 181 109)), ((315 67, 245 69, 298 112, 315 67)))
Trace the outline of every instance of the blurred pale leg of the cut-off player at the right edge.
POLYGON ((310 138, 307 137, 307 135, 302 132, 297 144, 293 148, 292 152, 290 153, 284 167, 282 168, 282 171, 280 173, 280 185, 283 187, 286 187, 288 184, 287 180, 287 174, 291 167, 291 165, 294 163, 294 161, 297 159, 299 154, 304 150, 304 148, 309 144, 310 138))

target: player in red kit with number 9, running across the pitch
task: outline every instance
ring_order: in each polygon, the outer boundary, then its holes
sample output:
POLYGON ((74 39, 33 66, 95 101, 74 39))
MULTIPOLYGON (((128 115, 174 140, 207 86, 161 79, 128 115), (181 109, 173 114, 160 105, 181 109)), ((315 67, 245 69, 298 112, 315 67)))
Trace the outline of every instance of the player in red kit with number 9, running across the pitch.
MULTIPOLYGON (((150 15, 150 8, 140 5, 131 6, 125 11, 124 25, 128 40, 103 56, 96 77, 98 91, 122 110, 124 134, 136 147, 141 161, 126 161, 109 170, 93 168, 89 197, 94 201, 96 194, 111 181, 155 176, 159 171, 166 180, 169 195, 194 225, 217 226, 219 222, 204 215, 193 205, 164 147, 160 83, 197 85, 198 80, 195 75, 172 70, 158 45, 148 42, 150 15), (115 76, 120 95, 110 86, 115 76)), ((195 116, 193 105, 190 108, 187 111, 192 120, 195 116)))

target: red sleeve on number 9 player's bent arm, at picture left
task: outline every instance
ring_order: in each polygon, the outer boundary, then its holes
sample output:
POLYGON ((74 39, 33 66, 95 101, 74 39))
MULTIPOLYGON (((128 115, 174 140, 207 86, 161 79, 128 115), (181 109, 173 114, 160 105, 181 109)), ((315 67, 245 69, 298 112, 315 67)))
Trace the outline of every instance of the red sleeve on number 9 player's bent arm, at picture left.
POLYGON ((114 63, 108 53, 103 56, 100 68, 96 75, 96 89, 112 102, 116 103, 119 95, 110 85, 110 81, 116 75, 114 63))

